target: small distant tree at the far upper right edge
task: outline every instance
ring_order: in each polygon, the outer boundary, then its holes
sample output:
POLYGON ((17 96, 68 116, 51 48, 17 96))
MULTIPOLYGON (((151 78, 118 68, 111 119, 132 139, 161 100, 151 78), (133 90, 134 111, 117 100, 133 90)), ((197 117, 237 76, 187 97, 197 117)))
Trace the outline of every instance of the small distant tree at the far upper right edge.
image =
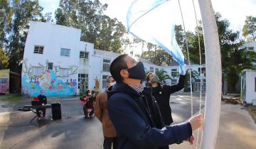
POLYGON ((245 25, 242 27, 242 35, 247 40, 255 41, 256 38, 256 17, 246 16, 245 25))

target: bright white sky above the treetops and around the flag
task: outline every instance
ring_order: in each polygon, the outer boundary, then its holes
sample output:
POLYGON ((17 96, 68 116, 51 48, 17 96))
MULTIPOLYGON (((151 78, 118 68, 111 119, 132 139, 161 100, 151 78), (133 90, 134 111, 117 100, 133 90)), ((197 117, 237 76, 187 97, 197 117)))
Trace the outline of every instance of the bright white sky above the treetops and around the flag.
MULTIPOLYGON (((127 26, 126 15, 130 4, 134 0, 100 0, 102 4, 108 4, 105 14, 111 18, 117 18, 124 26, 127 26)), ((176 0, 178 1, 178 0, 176 0)), ((180 0, 183 21, 188 31, 194 31, 196 28, 196 18, 193 9, 193 0, 180 0)), ((43 13, 52 12, 58 8, 59 0, 39 0, 43 6, 43 13)), ((196 15, 201 20, 198 1, 194 0, 196 15)), ((233 31, 242 31, 246 16, 256 16, 256 0, 212 0, 213 10, 220 12, 223 18, 230 22, 230 29, 233 31)), ((176 24, 182 24, 181 13, 177 5, 176 24)))

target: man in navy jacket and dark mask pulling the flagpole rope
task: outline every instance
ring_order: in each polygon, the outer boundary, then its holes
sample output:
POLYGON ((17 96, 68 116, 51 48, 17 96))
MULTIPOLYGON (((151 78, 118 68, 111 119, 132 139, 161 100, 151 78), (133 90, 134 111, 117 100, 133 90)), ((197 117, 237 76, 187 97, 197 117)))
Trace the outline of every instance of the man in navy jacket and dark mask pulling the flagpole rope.
POLYGON ((144 65, 129 55, 119 55, 110 65, 116 84, 107 89, 110 119, 117 131, 119 149, 166 149, 188 139, 203 123, 202 114, 188 122, 165 126, 151 87, 143 88, 144 65))

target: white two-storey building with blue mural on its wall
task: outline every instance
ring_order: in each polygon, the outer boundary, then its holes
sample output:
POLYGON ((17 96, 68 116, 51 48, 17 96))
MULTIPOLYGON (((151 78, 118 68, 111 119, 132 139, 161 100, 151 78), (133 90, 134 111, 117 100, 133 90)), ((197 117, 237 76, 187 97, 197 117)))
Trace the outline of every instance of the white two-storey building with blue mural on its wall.
MULTIPOLYGON (((38 96, 42 89, 46 96, 70 96, 106 87, 110 63, 119 53, 94 49, 92 43, 80 41, 80 35, 77 28, 31 21, 23 55, 23 94, 38 96)), ((144 62, 146 72, 165 70, 174 78, 168 83, 178 82, 178 64, 162 67, 138 60, 144 62)), ((198 67, 191 69, 198 72, 198 67)), ((195 83, 195 90, 200 89, 198 79, 195 83)))

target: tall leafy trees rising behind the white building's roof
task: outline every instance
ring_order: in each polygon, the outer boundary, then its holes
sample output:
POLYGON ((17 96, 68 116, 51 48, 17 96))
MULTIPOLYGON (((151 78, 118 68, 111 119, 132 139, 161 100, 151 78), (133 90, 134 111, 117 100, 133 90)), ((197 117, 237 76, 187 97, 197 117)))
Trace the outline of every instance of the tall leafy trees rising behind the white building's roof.
POLYGON ((80 28, 81 40, 94 43, 97 49, 121 53, 122 45, 127 44, 127 31, 117 18, 103 14, 106 9, 107 4, 99 0, 60 0, 56 23, 80 28))

